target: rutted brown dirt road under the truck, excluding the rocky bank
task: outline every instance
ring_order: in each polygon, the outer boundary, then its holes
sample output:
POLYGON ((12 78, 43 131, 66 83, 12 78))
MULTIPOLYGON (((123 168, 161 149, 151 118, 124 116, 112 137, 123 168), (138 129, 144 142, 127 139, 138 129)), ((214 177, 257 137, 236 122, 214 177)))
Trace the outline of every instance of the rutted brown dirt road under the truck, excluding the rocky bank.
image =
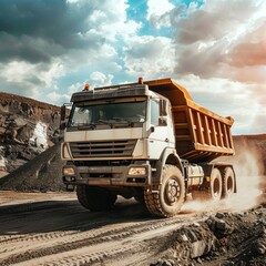
POLYGON ((206 217, 152 218, 123 198, 108 213, 90 213, 73 193, 0 192, 0 265, 149 265, 166 233, 206 217))

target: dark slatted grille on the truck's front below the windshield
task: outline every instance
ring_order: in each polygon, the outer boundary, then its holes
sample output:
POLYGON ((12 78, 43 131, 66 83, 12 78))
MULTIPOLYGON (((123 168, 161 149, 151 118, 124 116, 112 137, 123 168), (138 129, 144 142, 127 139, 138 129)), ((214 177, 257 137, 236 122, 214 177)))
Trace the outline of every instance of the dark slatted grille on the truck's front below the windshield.
POLYGON ((103 141, 103 142, 71 142, 73 157, 114 157, 130 156, 136 140, 103 141))

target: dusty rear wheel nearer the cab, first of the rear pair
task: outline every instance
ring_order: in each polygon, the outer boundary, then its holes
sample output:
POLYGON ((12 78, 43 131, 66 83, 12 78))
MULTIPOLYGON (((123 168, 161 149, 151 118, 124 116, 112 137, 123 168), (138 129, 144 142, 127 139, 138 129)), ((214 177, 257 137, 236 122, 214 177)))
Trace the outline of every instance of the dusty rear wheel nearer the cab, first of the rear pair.
POLYGON ((218 168, 213 168, 209 182, 209 197, 213 201, 222 198, 223 183, 222 175, 218 168))

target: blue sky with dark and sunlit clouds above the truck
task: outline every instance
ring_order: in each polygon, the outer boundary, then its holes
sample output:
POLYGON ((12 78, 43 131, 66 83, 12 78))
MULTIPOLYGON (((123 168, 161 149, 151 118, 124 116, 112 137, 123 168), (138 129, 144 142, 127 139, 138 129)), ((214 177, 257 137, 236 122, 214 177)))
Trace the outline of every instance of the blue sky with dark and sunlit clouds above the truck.
POLYGON ((0 91, 61 105, 85 83, 172 78, 266 133, 265 0, 1 0, 0 91))

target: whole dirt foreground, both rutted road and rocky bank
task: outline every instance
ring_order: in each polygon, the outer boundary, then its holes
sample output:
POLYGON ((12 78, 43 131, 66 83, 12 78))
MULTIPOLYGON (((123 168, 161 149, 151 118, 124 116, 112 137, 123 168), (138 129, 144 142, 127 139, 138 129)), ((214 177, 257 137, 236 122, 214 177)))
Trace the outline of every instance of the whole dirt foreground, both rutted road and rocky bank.
POLYGON ((234 212, 188 202, 162 219, 122 197, 100 213, 74 193, 2 191, 0 203, 0 265, 265 265, 266 204, 234 212))

